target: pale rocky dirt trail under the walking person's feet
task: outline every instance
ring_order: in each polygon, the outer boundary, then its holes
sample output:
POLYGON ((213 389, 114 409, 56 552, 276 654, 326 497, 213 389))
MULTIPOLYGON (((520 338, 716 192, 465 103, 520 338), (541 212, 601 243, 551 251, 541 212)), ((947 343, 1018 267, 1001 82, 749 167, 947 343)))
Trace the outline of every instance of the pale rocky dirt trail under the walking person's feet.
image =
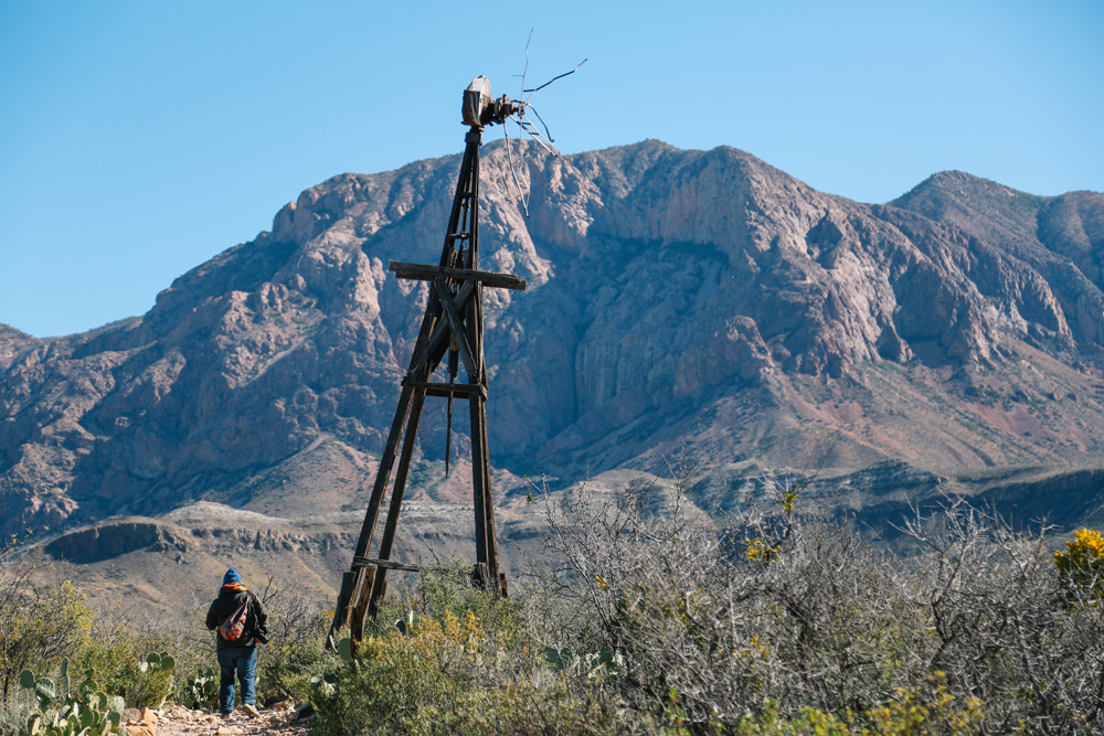
POLYGON ((152 718, 146 712, 145 721, 131 721, 127 728, 134 736, 306 736, 307 724, 291 721, 291 712, 290 704, 277 704, 261 708, 259 718, 251 718, 242 711, 223 718, 217 713, 168 705, 153 711, 152 718))

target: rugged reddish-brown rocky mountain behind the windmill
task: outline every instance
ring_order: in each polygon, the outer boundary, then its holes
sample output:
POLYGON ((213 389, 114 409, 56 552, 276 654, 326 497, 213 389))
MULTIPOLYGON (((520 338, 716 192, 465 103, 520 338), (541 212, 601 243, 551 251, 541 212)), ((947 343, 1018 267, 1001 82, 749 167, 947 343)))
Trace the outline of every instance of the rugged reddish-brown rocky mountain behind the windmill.
MULTIPOLYGON (((362 508, 426 300, 388 263, 436 262, 458 167, 309 189, 140 318, 0 329, 3 531, 362 508)), ((1100 463, 1104 195, 951 172, 866 205, 656 141, 530 168, 526 218, 485 148, 480 265, 530 285, 487 291, 500 498, 521 473, 657 471, 682 442, 704 472, 827 437, 845 468, 1100 463)), ((418 498, 467 492, 444 427, 432 404, 418 498)))

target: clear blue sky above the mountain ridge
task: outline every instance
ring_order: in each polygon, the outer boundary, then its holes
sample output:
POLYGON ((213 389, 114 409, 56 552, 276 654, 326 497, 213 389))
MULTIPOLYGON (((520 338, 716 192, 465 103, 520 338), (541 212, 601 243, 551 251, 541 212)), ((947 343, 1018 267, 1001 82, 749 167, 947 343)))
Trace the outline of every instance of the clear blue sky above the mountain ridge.
POLYGON ((142 313, 301 190, 458 152, 530 28, 531 81, 590 58, 539 97, 565 152, 729 145, 867 202, 944 169, 1104 190, 1101 0, 0 0, 0 322, 142 313))

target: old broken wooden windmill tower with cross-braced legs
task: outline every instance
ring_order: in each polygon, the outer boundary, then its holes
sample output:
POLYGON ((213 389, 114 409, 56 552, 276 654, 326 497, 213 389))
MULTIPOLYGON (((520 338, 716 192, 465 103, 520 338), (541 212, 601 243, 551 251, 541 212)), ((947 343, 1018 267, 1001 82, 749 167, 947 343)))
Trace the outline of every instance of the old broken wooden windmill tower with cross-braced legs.
POLYGON ((455 398, 467 399, 471 431, 471 495, 475 509, 476 563, 471 578, 477 585, 506 595, 506 576, 499 570, 495 510, 491 499, 487 446, 487 367, 484 361, 482 290, 524 290, 526 281, 511 274, 479 270, 479 149, 486 126, 505 124, 520 108, 516 100, 495 99, 490 83, 480 76, 464 93, 464 158, 445 230, 440 262, 436 266, 391 262, 399 278, 427 281, 429 295, 422 327, 402 382, 399 406, 376 471, 368 512, 361 526, 352 564, 341 578, 333 633, 348 626, 352 641, 364 634, 365 617, 374 618, 386 591, 388 570, 418 572, 420 566, 391 559, 403 494, 410 476, 414 442, 428 396, 448 399, 446 462, 452 452, 452 407, 455 398), (463 366, 464 380, 460 380, 463 366), (438 369, 442 369, 438 372, 438 369), (439 374, 444 375, 440 376, 439 374), (443 380, 434 380, 434 376, 443 380), (386 521, 375 557, 369 550, 380 520, 383 499, 391 484, 386 521))

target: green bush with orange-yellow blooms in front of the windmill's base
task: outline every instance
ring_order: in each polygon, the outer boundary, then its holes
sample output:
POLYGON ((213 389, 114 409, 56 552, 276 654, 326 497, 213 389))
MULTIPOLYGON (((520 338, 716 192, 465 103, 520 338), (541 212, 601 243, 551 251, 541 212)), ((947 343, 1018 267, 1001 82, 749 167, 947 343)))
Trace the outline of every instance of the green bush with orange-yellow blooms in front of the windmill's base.
MULTIPOLYGON (((435 589, 433 595, 440 593, 435 589)), ((482 593, 455 591, 501 625, 500 606, 482 593)), ((362 642, 355 663, 315 695, 321 736, 395 734, 622 733, 601 696, 588 696, 524 647, 510 648, 474 610, 405 619, 362 642)), ((596 685, 588 686, 596 690, 596 685)))

